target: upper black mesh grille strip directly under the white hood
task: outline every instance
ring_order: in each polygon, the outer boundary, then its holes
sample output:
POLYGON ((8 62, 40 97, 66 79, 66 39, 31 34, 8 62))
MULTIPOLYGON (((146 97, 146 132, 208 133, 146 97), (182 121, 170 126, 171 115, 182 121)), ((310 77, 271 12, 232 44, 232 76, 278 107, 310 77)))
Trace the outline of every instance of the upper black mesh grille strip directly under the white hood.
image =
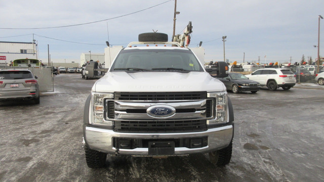
POLYGON ((175 101, 206 99, 207 92, 176 93, 114 93, 115 100, 131 101, 175 101))

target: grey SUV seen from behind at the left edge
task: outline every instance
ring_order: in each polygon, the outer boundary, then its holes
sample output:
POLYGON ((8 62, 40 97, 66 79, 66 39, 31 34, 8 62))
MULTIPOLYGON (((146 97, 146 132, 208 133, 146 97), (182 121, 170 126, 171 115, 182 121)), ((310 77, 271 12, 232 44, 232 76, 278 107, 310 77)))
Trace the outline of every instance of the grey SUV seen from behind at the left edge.
POLYGON ((29 99, 39 104, 37 76, 30 70, 0 70, 0 101, 29 99))

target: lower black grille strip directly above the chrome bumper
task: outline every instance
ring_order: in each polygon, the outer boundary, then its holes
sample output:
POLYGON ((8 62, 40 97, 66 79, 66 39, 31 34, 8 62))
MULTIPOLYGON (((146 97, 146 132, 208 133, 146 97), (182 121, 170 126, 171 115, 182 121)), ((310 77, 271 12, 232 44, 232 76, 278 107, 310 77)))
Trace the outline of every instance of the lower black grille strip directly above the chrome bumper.
POLYGON ((124 121, 115 120, 117 132, 195 132, 206 131, 206 120, 155 120, 124 121))

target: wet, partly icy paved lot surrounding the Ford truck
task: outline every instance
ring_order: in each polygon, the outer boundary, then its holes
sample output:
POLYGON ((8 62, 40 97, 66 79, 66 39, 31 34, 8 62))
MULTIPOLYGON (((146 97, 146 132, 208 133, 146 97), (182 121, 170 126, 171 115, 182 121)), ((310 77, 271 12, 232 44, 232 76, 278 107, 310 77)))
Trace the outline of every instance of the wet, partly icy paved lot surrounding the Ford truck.
POLYGON ((83 108, 96 80, 54 78, 41 104, 0 103, 0 181, 322 181, 324 88, 229 93, 235 128, 232 160, 208 155, 153 159, 108 155, 90 169, 82 148, 83 108))

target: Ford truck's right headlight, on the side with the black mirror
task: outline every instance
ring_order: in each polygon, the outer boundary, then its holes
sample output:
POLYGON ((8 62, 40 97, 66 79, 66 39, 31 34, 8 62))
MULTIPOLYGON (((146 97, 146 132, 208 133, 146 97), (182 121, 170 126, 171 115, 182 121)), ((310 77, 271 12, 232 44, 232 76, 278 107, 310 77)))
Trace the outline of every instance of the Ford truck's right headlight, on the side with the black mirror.
POLYGON ((207 120, 207 124, 220 124, 220 123, 226 123, 227 120, 227 93, 226 92, 214 92, 214 93, 208 93, 208 98, 214 98, 215 99, 215 109, 214 113, 215 116, 213 119, 207 120))

